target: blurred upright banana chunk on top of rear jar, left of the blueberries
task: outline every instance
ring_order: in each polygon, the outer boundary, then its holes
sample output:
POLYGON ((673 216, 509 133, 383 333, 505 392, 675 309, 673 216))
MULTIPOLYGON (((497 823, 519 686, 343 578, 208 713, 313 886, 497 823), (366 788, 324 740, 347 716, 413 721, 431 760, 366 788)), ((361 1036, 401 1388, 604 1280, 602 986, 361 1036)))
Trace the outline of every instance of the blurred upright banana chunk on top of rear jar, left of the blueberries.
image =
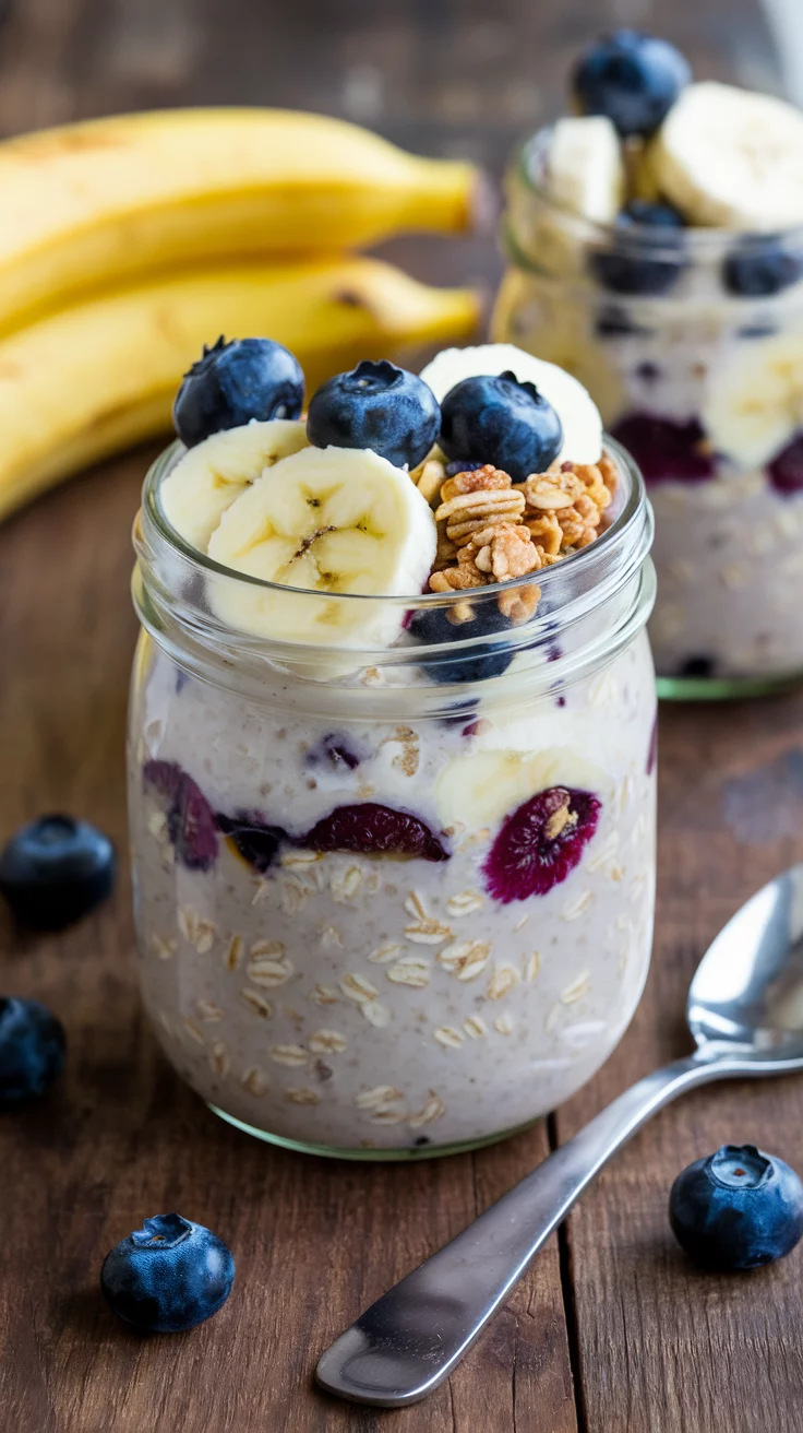
POLYGON ((618 135, 604 115, 558 119, 547 155, 547 182, 558 203, 595 224, 613 224, 624 198, 618 135))

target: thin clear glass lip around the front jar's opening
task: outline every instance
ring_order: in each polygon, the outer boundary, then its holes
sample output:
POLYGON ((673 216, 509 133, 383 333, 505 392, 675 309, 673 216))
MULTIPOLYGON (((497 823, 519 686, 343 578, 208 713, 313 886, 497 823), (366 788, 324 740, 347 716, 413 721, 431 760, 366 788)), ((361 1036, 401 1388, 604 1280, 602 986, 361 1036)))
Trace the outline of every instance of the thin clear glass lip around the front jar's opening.
MULTIPOLYGON (((176 466, 180 457, 186 453, 183 443, 177 438, 156 459, 156 461, 149 469, 143 492, 142 492, 142 519, 143 523, 152 529, 157 540, 169 545, 172 550, 179 553, 186 562, 192 563, 193 567, 200 573, 209 573, 210 576, 223 577, 226 580, 242 583, 248 588, 262 589, 265 592, 275 592, 283 596, 298 596, 309 600, 319 600, 323 603, 331 603, 334 599, 338 603, 346 605, 372 605, 384 608, 386 610, 418 610, 428 608, 454 608, 455 602, 461 599, 468 599, 471 602, 494 602, 501 593, 515 592, 518 588, 531 588, 534 583, 541 588, 544 599, 548 599, 550 593, 567 580, 567 575, 577 575, 580 580, 580 573, 585 572, 594 562, 600 557, 607 557, 608 552, 614 546, 627 545, 628 539, 636 526, 640 522, 640 513, 644 510, 646 503, 646 486, 641 476, 641 470, 631 459, 630 453, 615 438, 608 434, 604 436, 603 444, 604 453, 613 459, 617 473, 626 479, 627 492, 624 500, 614 499, 615 516, 613 522, 594 539, 587 547, 580 552, 564 557, 560 563, 553 563, 548 567, 542 567, 540 572, 527 573, 524 577, 514 577, 504 583, 487 583, 482 588, 471 588, 467 592, 422 592, 418 596, 415 593, 401 595, 401 596, 374 596, 371 593, 362 592, 312 592, 309 588, 292 588, 285 583, 269 582, 265 577, 256 577, 246 572, 238 572, 235 567, 226 567, 206 553, 199 552, 186 542, 185 537, 177 532, 176 527, 169 522, 160 500, 162 483, 176 466)), ((621 490, 621 483, 620 483, 621 490)), ((143 527, 143 537, 147 540, 147 533, 143 527)), ((135 546, 139 549, 137 529, 135 524, 135 546)), ((650 543, 644 549, 647 555, 650 543)), ((308 645, 305 645, 305 651, 308 645)))

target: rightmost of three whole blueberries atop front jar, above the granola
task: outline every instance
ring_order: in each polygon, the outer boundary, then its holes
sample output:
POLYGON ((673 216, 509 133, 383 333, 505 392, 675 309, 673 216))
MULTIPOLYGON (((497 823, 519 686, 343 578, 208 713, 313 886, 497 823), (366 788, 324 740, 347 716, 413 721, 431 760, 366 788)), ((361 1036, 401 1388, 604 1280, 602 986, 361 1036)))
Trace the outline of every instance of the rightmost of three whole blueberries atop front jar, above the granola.
POLYGON ((558 456, 561 420, 535 384, 514 373, 464 378, 441 404, 441 447, 448 459, 492 463, 522 483, 558 456))

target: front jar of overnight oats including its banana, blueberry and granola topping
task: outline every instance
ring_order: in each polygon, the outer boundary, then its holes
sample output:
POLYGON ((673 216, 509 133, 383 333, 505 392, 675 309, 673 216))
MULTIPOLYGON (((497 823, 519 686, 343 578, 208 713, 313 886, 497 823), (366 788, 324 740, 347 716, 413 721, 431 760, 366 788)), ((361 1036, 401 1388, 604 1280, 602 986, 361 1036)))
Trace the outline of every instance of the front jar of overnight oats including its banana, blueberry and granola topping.
POLYGON ((510 345, 421 378, 362 363, 302 421, 289 355, 246 342, 250 381, 228 381, 242 344, 185 380, 190 446, 135 527, 143 1000, 262 1138, 482 1144, 598 1069, 647 974, 641 477, 585 390, 510 345))

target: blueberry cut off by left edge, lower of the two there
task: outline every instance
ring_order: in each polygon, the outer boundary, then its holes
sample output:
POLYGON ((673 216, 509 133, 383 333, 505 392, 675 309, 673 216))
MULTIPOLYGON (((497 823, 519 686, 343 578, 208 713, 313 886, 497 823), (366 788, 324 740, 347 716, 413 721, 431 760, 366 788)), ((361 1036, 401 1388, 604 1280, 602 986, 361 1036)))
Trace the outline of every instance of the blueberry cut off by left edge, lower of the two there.
POLYGON ((64 1068, 64 1026, 39 1000, 0 996, 0 1109, 44 1095, 64 1068))

